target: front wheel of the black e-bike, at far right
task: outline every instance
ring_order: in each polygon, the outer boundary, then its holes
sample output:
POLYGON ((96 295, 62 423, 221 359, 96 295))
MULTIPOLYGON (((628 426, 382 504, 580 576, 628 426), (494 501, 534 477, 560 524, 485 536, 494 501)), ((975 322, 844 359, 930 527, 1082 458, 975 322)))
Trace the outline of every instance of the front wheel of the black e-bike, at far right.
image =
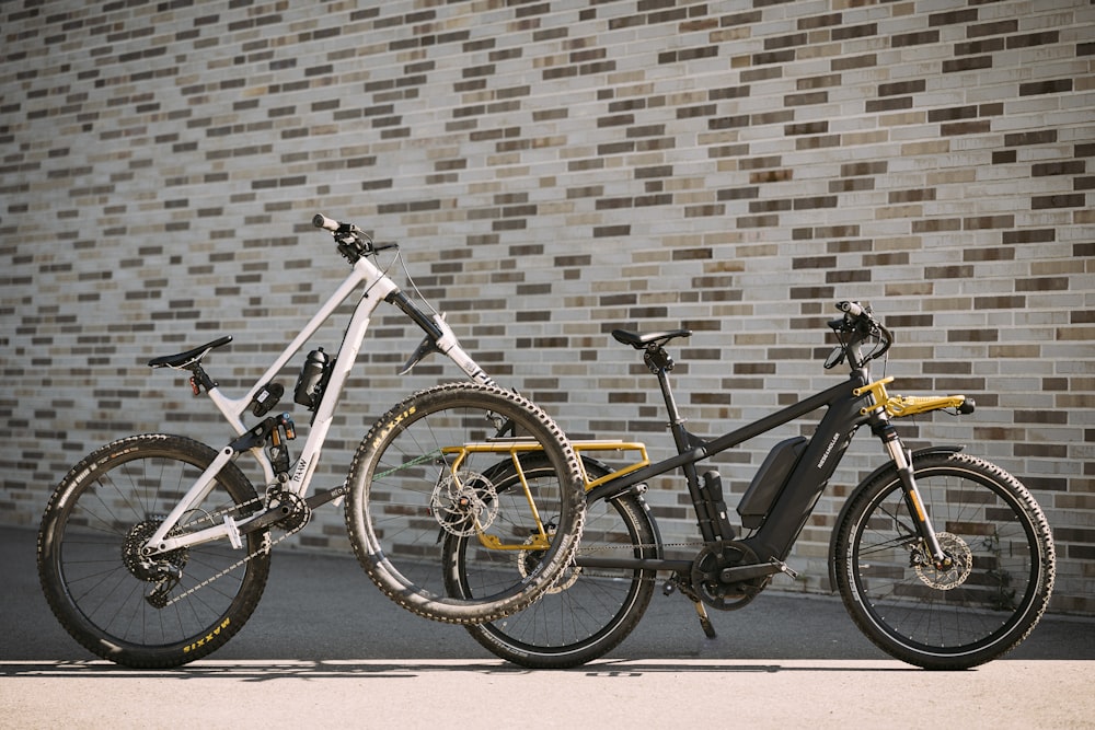
POLYGON ((983 460, 934 453, 913 470, 950 567, 933 566, 890 471, 852 497, 838 526, 837 587, 890 656, 925 669, 976 667, 1017 646, 1046 611, 1049 524, 1018 480, 983 460))

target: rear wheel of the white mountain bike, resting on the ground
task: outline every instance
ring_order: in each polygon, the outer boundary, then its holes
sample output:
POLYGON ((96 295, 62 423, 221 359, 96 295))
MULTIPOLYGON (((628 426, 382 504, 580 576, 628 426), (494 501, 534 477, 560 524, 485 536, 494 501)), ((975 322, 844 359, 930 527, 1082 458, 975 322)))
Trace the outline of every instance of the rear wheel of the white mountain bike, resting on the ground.
MULTIPOLYGON (((244 549, 221 540, 151 559, 139 552, 216 456, 183 437, 135 436, 93 452, 57 487, 38 532, 38 577, 61 626, 93 653, 139 669, 177 667, 221 647, 255 610, 269 575, 265 531, 246 535, 244 549)), ((261 507, 228 464, 201 509, 169 534, 261 507)))

